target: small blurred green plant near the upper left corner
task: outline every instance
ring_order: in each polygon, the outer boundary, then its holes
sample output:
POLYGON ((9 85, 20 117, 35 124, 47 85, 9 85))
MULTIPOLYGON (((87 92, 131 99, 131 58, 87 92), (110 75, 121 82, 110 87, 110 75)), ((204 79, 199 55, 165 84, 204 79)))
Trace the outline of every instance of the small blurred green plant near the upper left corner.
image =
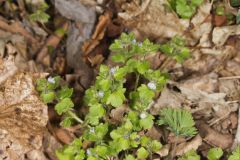
POLYGON ((42 3, 39 5, 37 10, 29 15, 29 18, 31 21, 38 21, 40 23, 46 23, 48 22, 50 16, 45 12, 48 9, 48 4, 47 3, 42 3))

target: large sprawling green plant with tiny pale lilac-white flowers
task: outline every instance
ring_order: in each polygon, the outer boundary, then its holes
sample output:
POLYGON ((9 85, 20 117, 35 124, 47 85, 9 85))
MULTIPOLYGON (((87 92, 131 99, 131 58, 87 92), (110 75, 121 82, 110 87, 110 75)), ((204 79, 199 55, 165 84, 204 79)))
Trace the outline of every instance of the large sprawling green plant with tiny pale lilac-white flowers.
POLYGON ((38 80, 37 89, 43 101, 55 102, 57 113, 64 114, 61 125, 68 127, 78 122, 84 130, 81 137, 56 152, 60 160, 104 160, 119 156, 126 160, 141 160, 160 150, 162 144, 158 140, 140 132, 153 127, 155 117, 149 113, 149 108, 155 95, 166 84, 168 76, 151 69, 145 57, 160 50, 179 62, 184 60, 189 50, 184 46, 183 39, 174 38, 177 40, 158 45, 149 40, 137 42, 132 33, 123 33, 115 40, 110 50, 114 53, 112 60, 119 65, 100 66, 95 84, 85 92, 84 103, 89 111, 84 120, 73 111, 73 90, 67 86, 61 87, 59 77, 38 80), (134 77, 133 88, 125 87, 129 83, 129 75, 134 77), (124 104, 129 111, 121 122, 113 123, 111 110, 124 104), (84 142, 91 142, 91 145, 83 148, 84 142))

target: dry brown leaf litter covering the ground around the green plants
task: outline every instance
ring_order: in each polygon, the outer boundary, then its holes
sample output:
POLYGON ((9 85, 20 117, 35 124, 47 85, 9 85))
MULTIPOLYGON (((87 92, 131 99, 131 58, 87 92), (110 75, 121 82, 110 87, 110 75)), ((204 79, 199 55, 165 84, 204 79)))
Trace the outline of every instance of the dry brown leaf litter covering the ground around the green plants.
MULTIPOLYGON (((107 58, 112 56, 108 47, 124 30, 134 32, 138 40, 147 37, 158 43, 180 35, 191 49, 191 57, 183 64, 169 60, 161 52, 148 57, 153 68, 164 69, 172 77, 155 99, 151 114, 158 115, 166 106, 184 108, 193 114, 199 131, 193 138, 177 142, 177 156, 191 150, 198 150, 206 156, 206 148, 220 147, 230 151, 240 145, 240 29, 238 24, 227 24, 230 23, 227 15, 216 18, 215 3, 204 1, 188 20, 168 11, 165 0, 145 0, 142 3, 138 0, 104 0, 101 3, 56 0, 52 6, 58 13, 53 16, 61 23, 54 24, 55 28, 36 22, 27 25, 24 22, 24 19, 28 21, 26 17, 21 21, 8 16, 5 11, 14 10, 14 7, 19 8, 20 16, 26 13, 27 8, 20 3, 0 1, 0 6, 4 6, 0 11, 5 15, 0 18, 2 159, 56 159, 54 152, 61 146, 59 142, 70 143, 73 137, 82 134, 79 127, 59 128, 55 121, 61 117, 56 114, 47 126, 47 110, 52 106, 48 109, 37 96, 34 88, 36 75, 43 72, 54 74, 57 70, 76 93, 83 95, 94 81, 98 66, 113 63, 107 58), (59 28, 64 33, 59 34, 59 28), (53 52, 49 54, 51 47, 53 52)), ((229 2, 221 3, 226 12, 237 14, 229 2)), ((74 99, 81 105, 81 96, 74 99)), ((80 114, 86 112, 83 107, 78 110, 80 114)), ((113 109, 111 121, 121 122, 126 112, 126 106, 113 109)), ((171 133, 165 132, 161 127, 154 127, 146 133, 165 141, 158 159, 173 150, 171 140, 167 140, 171 133)), ((174 141, 174 136, 170 139, 174 141)))

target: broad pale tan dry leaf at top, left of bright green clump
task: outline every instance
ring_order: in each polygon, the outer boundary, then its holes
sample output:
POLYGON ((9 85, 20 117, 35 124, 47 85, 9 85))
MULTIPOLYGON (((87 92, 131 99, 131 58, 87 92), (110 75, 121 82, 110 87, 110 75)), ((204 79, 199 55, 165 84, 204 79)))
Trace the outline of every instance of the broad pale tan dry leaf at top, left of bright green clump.
POLYGON ((180 20, 174 13, 165 12, 165 0, 145 1, 141 6, 130 3, 126 12, 119 13, 123 24, 140 33, 143 37, 152 39, 171 38, 182 35, 189 21, 180 20))

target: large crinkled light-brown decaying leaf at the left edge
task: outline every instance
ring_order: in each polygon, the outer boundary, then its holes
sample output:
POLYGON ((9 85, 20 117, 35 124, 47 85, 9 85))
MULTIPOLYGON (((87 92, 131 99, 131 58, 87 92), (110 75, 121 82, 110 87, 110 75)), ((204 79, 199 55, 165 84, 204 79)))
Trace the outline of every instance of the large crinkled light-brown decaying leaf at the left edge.
MULTIPOLYGON (((41 150, 47 106, 35 91, 37 77, 16 71, 10 74, 13 71, 5 68, 9 67, 6 63, 10 62, 1 63, 0 73, 0 77, 7 75, 0 92, 0 159, 24 160, 26 153, 41 150)), ((14 66, 13 62, 11 65, 14 66)))

